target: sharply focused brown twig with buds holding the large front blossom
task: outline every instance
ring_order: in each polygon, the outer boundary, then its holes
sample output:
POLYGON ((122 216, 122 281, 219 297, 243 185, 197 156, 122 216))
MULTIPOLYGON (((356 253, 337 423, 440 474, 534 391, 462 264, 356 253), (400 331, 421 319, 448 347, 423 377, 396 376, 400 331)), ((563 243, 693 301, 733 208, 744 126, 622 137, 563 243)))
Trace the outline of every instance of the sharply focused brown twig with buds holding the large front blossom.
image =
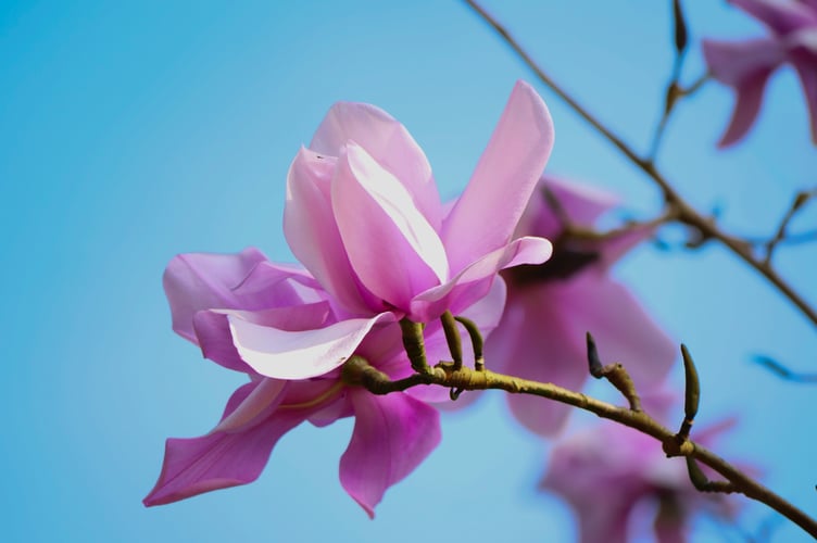
MULTIPOLYGON (((419 333, 422 334, 422 329, 419 333)), ((423 358, 425 359, 425 354, 423 358)), ((413 365, 415 361, 412 361, 413 365)), ((573 405, 574 407, 594 413, 601 418, 614 420, 652 435, 662 443, 664 452, 668 457, 684 456, 688 462, 690 479, 696 489, 704 492, 740 492, 766 504, 800 526, 812 536, 817 538, 817 521, 712 451, 690 441, 684 435, 683 427, 687 426, 686 431, 689 432, 689 427, 686 422, 691 422, 689 420, 689 393, 687 416, 684 422, 681 425, 682 430, 676 433, 642 411, 638 402, 633 401, 634 391, 631 390, 623 390, 625 396, 628 397, 630 407, 618 407, 553 383, 520 379, 487 369, 473 369, 468 366, 460 366, 455 369, 455 364, 448 362, 441 362, 435 366, 429 366, 427 363, 424 366, 418 366, 423 367, 422 371, 417 371, 403 379, 392 380, 388 375, 369 365, 368 361, 362 356, 353 355, 343 364, 342 377, 343 382, 347 384, 363 387, 374 394, 401 392, 418 386, 439 386, 458 392, 465 390, 499 389, 514 394, 531 394, 573 405), (726 481, 708 481, 697 467, 695 460, 705 464, 720 473, 726 481)), ((619 374, 624 372, 620 364, 608 365, 605 368, 609 368, 611 366, 617 366, 616 371, 619 374)), ((607 378, 609 379, 609 377, 607 378)), ((629 377, 626 379, 629 380, 629 377)), ((613 382, 613 379, 611 381, 613 382)), ((621 390, 618 384, 616 387, 621 390)), ((634 397, 637 399, 638 396, 636 395, 634 397)))

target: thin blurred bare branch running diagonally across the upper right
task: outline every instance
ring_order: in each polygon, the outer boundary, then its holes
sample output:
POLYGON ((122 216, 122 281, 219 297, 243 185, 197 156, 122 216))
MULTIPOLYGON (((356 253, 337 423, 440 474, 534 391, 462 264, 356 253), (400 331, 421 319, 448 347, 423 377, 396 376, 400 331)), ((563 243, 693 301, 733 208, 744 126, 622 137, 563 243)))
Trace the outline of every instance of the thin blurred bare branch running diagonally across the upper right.
MULTIPOLYGON (((751 243, 745 240, 731 236, 722 231, 715 222, 699 213, 690 203, 687 202, 669 182, 669 180, 656 168, 654 161, 651 157, 643 157, 637 153, 628 143, 626 143, 619 136, 613 132, 604 124, 601 123, 593 114, 591 114, 585 106, 576 101, 566 90, 562 88, 553 78, 551 78, 537 62, 528 54, 528 52, 519 45, 508 30, 499 23, 490 13, 488 13, 479 3, 474 0, 465 0, 467 3, 486 23, 488 23, 507 43, 511 49, 525 62, 525 64, 536 74, 542 84, 551 89, 558 98, 561 98, 576 114, 583 118, 593 129, 601 134, 613 147, 618 149, 632 164, 641 169, 662 191, 664 200, 670 210, 677 214, 677 222, 687 226, 695 228, 701 232, 701 239, 717 240, 727 249, 729 249, 736 256, 746 263, 750 267, 755 269, 758 274, 765 277, 777 290, 783 294, 789 301, 796 306, 800 312, 817 327, 817 311, 809 305, 808 302, 794 290, 771 266, 766 258, 758 257, 754 254, 751 243)), ((697 84, 695 86, 697 87, 697 84)))

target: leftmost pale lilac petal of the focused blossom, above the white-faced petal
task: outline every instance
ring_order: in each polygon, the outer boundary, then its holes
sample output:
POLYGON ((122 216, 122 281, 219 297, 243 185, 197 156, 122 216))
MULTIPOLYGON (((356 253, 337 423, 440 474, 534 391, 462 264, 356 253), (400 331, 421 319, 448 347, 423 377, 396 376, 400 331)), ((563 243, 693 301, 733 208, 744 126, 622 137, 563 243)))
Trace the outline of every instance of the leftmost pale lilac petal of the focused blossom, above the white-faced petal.
POLYGON ((174 257, 164 272, 163 282, 176 333, 196 342, 197 312, 241 306, 246 300, 232 289, 265 261, 266 256, 253 248, 238 254, 190 253, 174 257))

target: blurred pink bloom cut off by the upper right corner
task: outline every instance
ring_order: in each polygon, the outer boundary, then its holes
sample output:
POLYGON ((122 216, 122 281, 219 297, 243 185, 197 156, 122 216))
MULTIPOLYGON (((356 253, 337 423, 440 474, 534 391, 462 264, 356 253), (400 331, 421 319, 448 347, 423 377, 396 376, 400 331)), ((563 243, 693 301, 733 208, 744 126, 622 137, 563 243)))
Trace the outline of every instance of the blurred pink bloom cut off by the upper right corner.
POLYGON ((769 76, 784 63, 800 76, 812 139, 817 142, 817 0, 730 1, 764 23, 770 36, 740 42, 703 41, 713 77, 737 94, 732 118, 718 146, 731 146, 746 135, 761 111, 769 76))

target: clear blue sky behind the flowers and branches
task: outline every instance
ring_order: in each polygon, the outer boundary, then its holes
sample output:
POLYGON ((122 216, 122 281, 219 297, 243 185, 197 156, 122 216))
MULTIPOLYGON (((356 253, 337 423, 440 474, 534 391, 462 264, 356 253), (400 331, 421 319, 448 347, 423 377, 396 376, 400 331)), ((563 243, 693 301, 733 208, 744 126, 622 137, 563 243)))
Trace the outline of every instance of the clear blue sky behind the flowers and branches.
MULTIPOLYGON (((671 62, 668 1, 492 3, 557 79, 646 147, 671 62)), ((695 39, 762 31, 724 2, 687 3, 695 39)), ((700 56, 695 43, 688 80, 700 56)), ((286 172, 337 100, 401 119, 453 197, 518 78, 532 81, 457 1, 0 3, 0 539, 569 540, 569 510, 535 491, 546 446, 499 393, 447 418, 442 445, 374 521, 338 482, 349 420, 288 434, 254 484, 152 509, 140 502, 164 439, 208 431, 241 382, 171 331, 169 258, 256 245, 291 261, 286 172)), ((539 88, 556 123, 549 172, 654 213, 648 180, 539 88)), ((816 182, 793 73, 769 90, 750 138, 719 153, 731 97, 706 87, 681 105, 661 157, 682 193, 721 207, 739 232, 769 233, 793 191, 816 182)), ((795 226, 815 224, 808 212, 795 226)), ((817 302, 814 245, 783 250, 779 263, 817 302)), ((724 454, 762 466, 766 482, 817 514, 817 389, 749 362, 763 352, 817 370, 814 327, 715 247, 645 248, 618 274, 691 346, 701 420, 742 416, 724 454)), ((751 506, 742 526, 767 515, 751 506)), ((705 521, 696 535, 738 541, 705 521)), ((776 535, 805 540, 788 526, 776 535)))

